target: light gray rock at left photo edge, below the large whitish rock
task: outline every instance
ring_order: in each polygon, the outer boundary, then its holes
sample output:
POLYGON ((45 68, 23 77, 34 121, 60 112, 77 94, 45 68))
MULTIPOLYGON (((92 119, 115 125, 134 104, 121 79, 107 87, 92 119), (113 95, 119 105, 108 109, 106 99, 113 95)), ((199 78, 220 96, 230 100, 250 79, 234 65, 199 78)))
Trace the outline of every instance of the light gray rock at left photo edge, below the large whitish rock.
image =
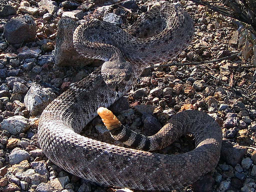
POLYGON ((30 127, 29 120, 19 115, 4 119, 0 125, 3 130, 7 130, 12 135, 24 133, 30 127))

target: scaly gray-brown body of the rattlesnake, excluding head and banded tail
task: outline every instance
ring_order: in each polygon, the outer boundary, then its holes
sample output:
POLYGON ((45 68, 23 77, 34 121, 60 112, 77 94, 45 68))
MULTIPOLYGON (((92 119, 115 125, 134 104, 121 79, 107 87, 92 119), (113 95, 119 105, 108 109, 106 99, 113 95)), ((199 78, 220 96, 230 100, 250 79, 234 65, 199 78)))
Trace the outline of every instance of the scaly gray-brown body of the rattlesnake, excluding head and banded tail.
POLYGON ((155 136, 147 137, 151 143, 160 142, 164 147, 185 133, 193 134, 195 150, 180 155, 145 152, 79 135, 96 117, 100 106, 110 106, 117 93, 121 97, 131 89, 146 64, 172 58, 188 45, 193 33, 190 16, 180 5, 166 2, 152 7, 126 30, 96 19, 80 25, 73 35, 77 51, 105 60, 108 65, 72 84, 42 112, 38 143, 45 155, 78 177, 141 190, 182 188, 214 169, 220 157, 222 134, 214 119, 203 112, 173 115, 155 136), (131 69, 127 70, 125 64, 131 69), (112 83, 112 75, 119 78, 119 83, 112 83), (110 89, 105 81, 118 89, 110 89))

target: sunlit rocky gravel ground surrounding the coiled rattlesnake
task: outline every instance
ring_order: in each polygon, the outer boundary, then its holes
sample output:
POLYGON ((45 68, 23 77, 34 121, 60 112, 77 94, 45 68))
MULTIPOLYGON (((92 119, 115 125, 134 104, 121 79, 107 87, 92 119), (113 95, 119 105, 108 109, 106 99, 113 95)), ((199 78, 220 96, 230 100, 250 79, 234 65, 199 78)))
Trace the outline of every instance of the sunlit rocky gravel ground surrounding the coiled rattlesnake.
MULTIPOLYGON (((112 109, 122 123, 146 135, 156 133, 179 111, 207 112, 222 127, 221 159, 214 172, 184 191, 255 191, 251 30, 207 7, 181 4, 195 22, 193 42, 167 66, 146 69, 134 90, 112 109)), ((117 189, 82 180, 52 164, 37 144, 38 119, 51 100, 99 65, 74 52, 70 34, 78 25, 75 21, 97 17, 126 28, 147 8, 148 2, 132 0, 0 2, 0 191, 117 189), (99 5, 104 7, 96 9, 99 5)), ((99 118, 86 128, 82 134, 115 143, 99 118)), ((159 153, 183 153, 193 147, 193 138, 184 136, 159 153)))

